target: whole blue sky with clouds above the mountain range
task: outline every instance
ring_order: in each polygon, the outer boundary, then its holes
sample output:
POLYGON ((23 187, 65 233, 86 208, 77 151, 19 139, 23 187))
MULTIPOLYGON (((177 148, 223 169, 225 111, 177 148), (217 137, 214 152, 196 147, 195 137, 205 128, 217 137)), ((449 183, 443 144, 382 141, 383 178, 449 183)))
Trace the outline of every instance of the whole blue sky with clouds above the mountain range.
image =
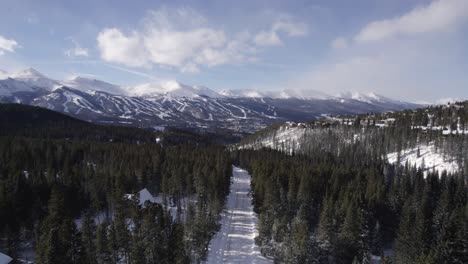
POLYGON ((122 85, 468 98, 468 0, 0 4, 0 69, 122 85))

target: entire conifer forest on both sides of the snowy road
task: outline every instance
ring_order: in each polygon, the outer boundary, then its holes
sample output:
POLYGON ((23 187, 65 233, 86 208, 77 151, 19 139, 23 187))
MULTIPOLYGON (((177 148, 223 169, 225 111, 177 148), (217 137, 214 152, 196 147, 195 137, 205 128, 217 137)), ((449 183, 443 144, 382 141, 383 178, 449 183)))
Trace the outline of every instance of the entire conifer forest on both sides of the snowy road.
POLYGON ((0 120, 0 249, 14 263, 204 263, 232 166, 251 175, 270 263, 468 263, 468 103, 286 123, 238 143, 15 104, 0 120))

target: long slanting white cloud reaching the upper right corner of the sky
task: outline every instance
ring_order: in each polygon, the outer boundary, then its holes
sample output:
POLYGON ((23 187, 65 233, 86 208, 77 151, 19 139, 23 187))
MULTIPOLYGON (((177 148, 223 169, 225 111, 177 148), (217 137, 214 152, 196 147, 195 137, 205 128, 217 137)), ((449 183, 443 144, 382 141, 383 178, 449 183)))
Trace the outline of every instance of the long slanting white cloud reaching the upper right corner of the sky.
POLYGON ((467 0, 435 0, 402 16, 371 22, 354 39, 373 42, 398 35, 451 31, 466 20, 467 0))

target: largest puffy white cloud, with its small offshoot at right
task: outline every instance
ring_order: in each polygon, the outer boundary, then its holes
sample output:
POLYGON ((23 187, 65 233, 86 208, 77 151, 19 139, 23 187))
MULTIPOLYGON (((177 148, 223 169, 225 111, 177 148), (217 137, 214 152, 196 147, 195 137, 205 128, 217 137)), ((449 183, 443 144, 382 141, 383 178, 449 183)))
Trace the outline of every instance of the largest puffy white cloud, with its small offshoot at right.
MULTIPOLYGON (((265 31, 266 32, 266 31, 265 31)), ((305 25, 282 19, 272 25, 274 34, 302 36, 305 25)), ((264 36, 259 42, 275 41, 264 36)), ((273 36, 274 38, 275 36, 273 36)), ((279 37, 276 41, 280 41, 279 37)), ((131 32, 103 29, 97 36, 101 58, 130 67, 169 66, 194 73, 201 67, 245 63, 255 60, 258 51, 248 31, 227 34, 208 25, 191 8, 161 8, 148 12, 142 26, 131 32)))

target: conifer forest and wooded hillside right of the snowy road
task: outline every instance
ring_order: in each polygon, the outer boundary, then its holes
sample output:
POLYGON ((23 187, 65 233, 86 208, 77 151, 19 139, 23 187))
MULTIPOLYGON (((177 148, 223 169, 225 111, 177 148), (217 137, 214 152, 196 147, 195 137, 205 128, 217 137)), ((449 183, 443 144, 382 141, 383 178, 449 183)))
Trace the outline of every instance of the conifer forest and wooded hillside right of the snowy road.
POLYGON ((253 177, 262 252, 285 263, 468 262, 465 106, 327 117, 244 139, 233 157, 253 177), (459 169, 400 162, 422 146, 459 169))

